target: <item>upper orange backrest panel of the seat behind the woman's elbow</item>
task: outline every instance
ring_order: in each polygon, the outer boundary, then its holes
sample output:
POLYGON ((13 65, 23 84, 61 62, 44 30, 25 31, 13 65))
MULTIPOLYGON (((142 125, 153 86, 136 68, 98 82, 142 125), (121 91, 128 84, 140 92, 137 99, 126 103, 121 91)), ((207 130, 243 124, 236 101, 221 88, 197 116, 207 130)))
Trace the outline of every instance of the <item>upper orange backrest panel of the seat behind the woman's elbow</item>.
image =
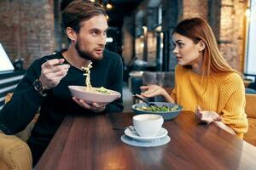
POLYGON ((256 118, 256 94, 246 94, 246 108, 248 118, 256 118))

